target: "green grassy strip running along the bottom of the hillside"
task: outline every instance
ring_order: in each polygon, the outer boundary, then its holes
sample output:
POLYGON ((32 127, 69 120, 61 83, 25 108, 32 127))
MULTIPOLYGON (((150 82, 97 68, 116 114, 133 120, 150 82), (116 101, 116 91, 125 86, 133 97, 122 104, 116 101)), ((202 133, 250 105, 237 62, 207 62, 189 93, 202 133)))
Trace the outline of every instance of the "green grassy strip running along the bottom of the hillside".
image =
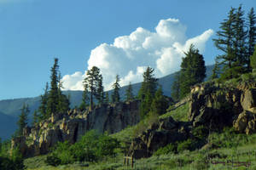
MULTIPOLYGON (((129 127, 131 128, 131 127, 129 127)), ((129 129, 128 128, 128 129, 129 129)), ((131 130, 131 129, 130 129, 131 130)), ((129 132, 129 130, 124 131, 129 132)), ((124 133, 123 132, 123 133, 124 133)), ((120 135, 120 134, 119 134, 120 135)), ((119 136, 118 135, 118 136, 119 136)), ((223 135, 222 133, 212 134, 215 137, 218 135, 223 135)), ((238 139, 238 138, 237 138, 238 139)), ((236 139, 236 140, 237 140, 236 139)), ((184 150, 178 154, 166 154, 160 156, 151 156, 149 158, 143 158, 140 160, 136 160, 134 164, 134 169, 184 169, 184 170, 194 170, 194 169, 214 169, 214 170, 226 170, 232 169, 232 164, 212 164, 211 162, 223 161, 227 162, 227 160, 233 161, 250 161, 251 166, 249 168, 241 166, 241 167, 233 167, 233 169, 255 169, 256 170, 256 152, 252 152, 252 150, 256 150, 255 140, 256 134, 252 134, 247 136, 247 140, 243 141, 241 145, 237 147, 231 148, 218 148, 218 149, 210 149, 210 150, 184 150), (247 152, 249 154, 247 154, 247 152), (211 160, 209 160, 211 158, 211 160), (208 163, 207 163, 207 162, 208 163)), ((46 166, 44 163, 46 156, 37 156, 26 159, 25 164, 28 170, 125 170, 131 169, 131 167, 127 167, 123 165, 123 154, 119 153, 117 156, 113 158, 106 158, 102 162, 91 162, 91 163, 75 163, 72 165, 62 165, 59 167, 51 167, 46 166)), ((234 163, 235 165, 235 163, 234 163)))

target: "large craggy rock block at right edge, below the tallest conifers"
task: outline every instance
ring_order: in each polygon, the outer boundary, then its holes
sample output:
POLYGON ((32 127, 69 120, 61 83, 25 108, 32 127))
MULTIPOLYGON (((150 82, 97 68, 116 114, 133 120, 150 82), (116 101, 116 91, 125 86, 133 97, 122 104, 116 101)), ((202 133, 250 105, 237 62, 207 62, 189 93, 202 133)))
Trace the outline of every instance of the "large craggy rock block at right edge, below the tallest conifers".
MULTIPOLYGON (((199 86, 199 85, 198 85, 199 86)), ((256 87, 243 83, 236 88, 210 83, 191 90, 189 121, 193 126, 232 126, 240 132, 253 133, 256 114, 256 87)))

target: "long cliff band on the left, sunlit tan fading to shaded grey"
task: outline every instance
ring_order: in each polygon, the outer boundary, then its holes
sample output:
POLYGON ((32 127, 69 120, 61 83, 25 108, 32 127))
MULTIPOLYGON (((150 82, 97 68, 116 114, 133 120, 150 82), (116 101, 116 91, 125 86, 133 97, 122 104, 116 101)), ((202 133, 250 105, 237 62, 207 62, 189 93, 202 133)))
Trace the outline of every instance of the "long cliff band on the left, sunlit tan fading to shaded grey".
POLYGON ((140 121, 139 101, 97 106, 93 111, 71 110, 67 114, 51 116, 37 127, 24 129, 24 137, 12 139, 12 147, 20 145, 24 156, 49 152, 57 142, 75 143, 91 129, 99 133, 117 133, 140 121))

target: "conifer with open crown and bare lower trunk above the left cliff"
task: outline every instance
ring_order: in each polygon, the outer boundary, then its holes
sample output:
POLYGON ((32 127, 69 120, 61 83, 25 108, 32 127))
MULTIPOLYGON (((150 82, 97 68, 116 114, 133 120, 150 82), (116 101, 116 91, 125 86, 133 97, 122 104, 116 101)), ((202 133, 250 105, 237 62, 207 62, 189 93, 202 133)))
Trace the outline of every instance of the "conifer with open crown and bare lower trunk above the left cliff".
POLYGON ((101 79, 100 69, 93 66, 90 70, 86 72, 86 77, 84 78, 84 87, 87 84, 88 91, 90 92, 90 110, 93 109, 93 96, 98 96, 98 86, 99 80, 101 79))

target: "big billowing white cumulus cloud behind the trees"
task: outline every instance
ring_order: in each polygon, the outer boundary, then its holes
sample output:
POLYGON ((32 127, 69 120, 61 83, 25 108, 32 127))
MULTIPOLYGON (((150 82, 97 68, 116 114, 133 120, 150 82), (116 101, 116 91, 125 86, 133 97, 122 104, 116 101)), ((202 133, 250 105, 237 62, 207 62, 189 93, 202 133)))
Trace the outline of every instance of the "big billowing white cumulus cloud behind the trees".
MULTIPOLYGON (((186 37, 187 27, 177 19, 160 20, 155 31, 138 27, 128 36, 116 37, 113 44, 102 43, 90 52, 88 68, 97 66, 102 71, 103 83, 110 89, 115 76, 121 77, 120 84, 143 81, 143 71, 147 66, 155 69, 156 77, 163 77, 178 71, 184 52, 191 43, 201 53, 207 40, 212 36, 211 29, 197 37, 186 37)), ((75 72, 63 77, 67 89, 83 89, 85 74, 75 72)))

